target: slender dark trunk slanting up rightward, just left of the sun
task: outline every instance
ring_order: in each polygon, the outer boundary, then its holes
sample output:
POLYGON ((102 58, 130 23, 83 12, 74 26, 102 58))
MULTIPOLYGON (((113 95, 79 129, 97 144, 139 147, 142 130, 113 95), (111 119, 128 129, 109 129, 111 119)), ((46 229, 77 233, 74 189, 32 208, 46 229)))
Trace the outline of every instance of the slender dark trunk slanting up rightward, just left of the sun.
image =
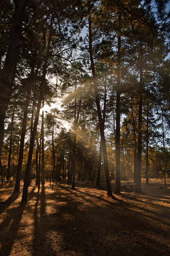
POLYGON ((32 161, 32 156, 33 156, 35 136, 36 136, 36 132, 37 132, 38 120, 39 120, 39 115, 40 115, 41 102, 43 100, 43 92, 44 92, 44 86, 45 86, 46 69, 47 69, 47 61, 48 61, 47 56, 49 55, 51 38, 52 38, 52 26, 53 26, 53 18, 51 17, 49 38, 48 38, 48 44, 47 44, 47 49, 46 49, 46 58, 44 60, 44 65, 42 68, 42 81, 41 81, 41 85, 40 85, 40 94, 39 94, 39 99, 38 99, 37 111, 35 114, 33 132, 32 132, 31 138, 30 138, 29 155, 28 155, 26 171, 25 171, 25 176, 24 176, 22 202, 27 202, 27 198, 28 198, 28 186, 29 186, 29 179, 30 179, 30 172, 31 172, 31 161, 32 161))

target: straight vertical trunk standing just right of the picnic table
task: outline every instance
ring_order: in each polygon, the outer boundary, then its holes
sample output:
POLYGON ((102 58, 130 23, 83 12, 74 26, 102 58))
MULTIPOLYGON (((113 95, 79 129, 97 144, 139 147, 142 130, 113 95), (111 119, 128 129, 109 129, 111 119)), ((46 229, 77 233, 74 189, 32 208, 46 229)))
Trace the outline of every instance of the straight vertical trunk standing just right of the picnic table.
POLYGON ((142 107, 143 107, 143 49, 140 43, 140 81, 139 81, 139 117, 138 117, 138 142, 137 142, 137 193, 141 193, 141 155, 142 155, 142 107))

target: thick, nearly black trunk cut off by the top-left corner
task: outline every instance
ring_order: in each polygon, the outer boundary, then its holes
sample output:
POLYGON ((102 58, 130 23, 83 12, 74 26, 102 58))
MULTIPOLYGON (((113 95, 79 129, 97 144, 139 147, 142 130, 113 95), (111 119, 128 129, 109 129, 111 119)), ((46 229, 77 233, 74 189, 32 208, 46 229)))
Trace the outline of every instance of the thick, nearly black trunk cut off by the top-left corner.
POLYGON ((4 118, 9 101, 11 99, 13 81, 18 61, 20 38, 22 34, 22 21, 26 11, 28 0, 14 1, 15 10, 13 13, 9 46, 0 77, 0 155, 2 153, 4 137, 4 118))

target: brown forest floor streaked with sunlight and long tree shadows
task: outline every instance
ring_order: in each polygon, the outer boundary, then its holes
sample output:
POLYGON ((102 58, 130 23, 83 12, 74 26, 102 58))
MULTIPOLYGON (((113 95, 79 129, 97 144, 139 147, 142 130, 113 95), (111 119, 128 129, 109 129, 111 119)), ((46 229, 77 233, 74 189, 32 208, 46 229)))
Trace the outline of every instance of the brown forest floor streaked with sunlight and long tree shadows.
MULTIPOLYGON (((144 193, 106 195, 105 183, 0 189, 0 255, 170 255, 170 181, 142 180, 144 193)), ((114 186, 114 183, 113 183, 114 186)))

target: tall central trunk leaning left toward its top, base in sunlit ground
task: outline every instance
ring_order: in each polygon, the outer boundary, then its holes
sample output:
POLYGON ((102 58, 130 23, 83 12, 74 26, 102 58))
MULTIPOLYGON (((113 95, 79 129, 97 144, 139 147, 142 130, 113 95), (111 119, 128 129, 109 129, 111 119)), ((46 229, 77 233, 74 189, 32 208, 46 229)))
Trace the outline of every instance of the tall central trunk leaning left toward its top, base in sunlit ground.
POLYGON ((98 119, 99 119, 99 129, 100 129, 101 142, 102 142, 107 194, 112 195, 112 187, 111 187, 111 181, 110 181, 107 148, 106 148, 106 139, 105 139, 105 135, 104 135, 104 123, 103 123, 102 112, 101 112, 101 108, 100 108, 98 82, 97 82, 97 76, 95 73, 95 65, 94 65, 94 60, 93 60, 91 17, 88 17, 88 29, 89 29, 89 55, 90 55, 90 60, 91 60, 91 70, 92 70, 92 74, 93 74, 93 85, 94 85, 94 90, 95 90, 95 101, 96 101, 96 106, 97 106, 97 115, 98 115, 98 119))

